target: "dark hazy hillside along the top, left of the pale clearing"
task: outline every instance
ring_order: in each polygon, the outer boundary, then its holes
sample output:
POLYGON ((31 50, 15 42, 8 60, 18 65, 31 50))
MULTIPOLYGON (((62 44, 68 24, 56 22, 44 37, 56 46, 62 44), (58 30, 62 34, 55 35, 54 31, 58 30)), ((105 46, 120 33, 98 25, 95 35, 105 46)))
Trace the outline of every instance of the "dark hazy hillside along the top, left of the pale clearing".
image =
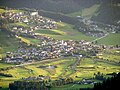
POLYGON ((53 12, 75 12, 78 11, 80 8, 88 7, 98 1, 94 0, 1 0, 1 6, 8 6, 13 8, 36 8, 36 9, 43 9, 47 11, 53 12), (88 2, 90 1, 90 3, 88 2))

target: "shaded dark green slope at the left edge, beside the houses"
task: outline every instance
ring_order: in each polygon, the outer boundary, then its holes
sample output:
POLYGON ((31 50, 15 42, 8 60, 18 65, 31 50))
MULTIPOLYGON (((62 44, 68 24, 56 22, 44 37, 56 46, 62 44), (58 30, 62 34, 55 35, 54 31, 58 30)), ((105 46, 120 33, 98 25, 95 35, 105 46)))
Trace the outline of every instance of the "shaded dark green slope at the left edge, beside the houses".
POLYGON ((0 30, 0 56, 3 57, 6 52, 14 51, 17 49, 19 40, 10 33, 0 30))

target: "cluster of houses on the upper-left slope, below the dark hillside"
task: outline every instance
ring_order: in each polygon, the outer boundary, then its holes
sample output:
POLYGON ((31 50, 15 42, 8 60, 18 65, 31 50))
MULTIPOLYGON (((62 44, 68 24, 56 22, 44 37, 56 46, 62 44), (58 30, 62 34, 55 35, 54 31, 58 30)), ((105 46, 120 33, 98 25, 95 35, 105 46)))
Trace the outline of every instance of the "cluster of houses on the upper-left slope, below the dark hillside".
POLYGON ((0 14, 0 18, 7 19, 12 32, 17 34, 29 34, 37 29, 55 29, 56 22, 52 19, 42 17, 38 12, 7 10, 0 14))

